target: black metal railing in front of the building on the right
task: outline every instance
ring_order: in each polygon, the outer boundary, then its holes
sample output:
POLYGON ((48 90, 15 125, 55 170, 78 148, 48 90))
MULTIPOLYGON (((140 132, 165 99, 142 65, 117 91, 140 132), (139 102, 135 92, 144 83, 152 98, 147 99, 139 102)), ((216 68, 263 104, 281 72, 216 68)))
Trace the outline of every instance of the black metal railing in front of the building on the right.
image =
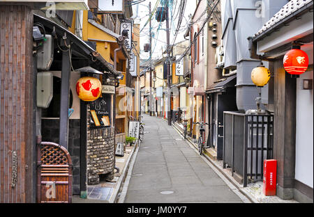
POLYGON ((274 115, 225 111, 223 114, 223 168, 244 179, 262 181, 264 159, 273 158, 274 115))

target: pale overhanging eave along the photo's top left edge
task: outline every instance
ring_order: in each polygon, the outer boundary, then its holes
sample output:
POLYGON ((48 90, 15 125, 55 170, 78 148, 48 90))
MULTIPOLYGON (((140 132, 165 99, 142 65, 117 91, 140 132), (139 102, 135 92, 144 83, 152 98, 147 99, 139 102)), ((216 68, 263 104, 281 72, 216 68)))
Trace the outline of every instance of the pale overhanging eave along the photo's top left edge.
POLYGON ((33 9, 47 10, 54 5, 55 10, 89 10, 88 0, 0 0, 6 3, 31 3, 33 9))

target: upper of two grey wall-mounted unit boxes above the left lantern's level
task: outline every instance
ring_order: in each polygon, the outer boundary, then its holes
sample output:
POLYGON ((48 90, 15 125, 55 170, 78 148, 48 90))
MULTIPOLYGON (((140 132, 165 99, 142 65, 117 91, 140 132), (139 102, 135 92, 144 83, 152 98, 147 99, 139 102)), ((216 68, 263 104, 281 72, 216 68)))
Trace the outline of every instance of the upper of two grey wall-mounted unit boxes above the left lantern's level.
POLYGON ((46 35, 43 43, 43 49, 37 54, 37 69, 47 71, 50 70, 52 61, 54 60, 54 40, 52 35, 46 35))

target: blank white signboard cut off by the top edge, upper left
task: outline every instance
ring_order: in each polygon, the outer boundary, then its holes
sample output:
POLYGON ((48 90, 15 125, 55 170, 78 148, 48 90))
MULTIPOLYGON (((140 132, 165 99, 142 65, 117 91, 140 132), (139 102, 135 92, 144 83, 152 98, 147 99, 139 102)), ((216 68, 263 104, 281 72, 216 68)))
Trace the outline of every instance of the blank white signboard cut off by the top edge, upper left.
POLYGON ((124 0, 98 0, 98 13, 124 13, 124 0))

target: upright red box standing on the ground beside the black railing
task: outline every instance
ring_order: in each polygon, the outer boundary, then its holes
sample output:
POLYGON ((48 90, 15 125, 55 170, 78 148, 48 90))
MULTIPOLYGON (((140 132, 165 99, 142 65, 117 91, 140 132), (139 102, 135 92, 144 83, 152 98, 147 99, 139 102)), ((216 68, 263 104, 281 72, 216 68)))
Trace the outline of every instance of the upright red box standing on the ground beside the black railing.
POLYGON ((276 195, 277 161, 264 160, 263 193, 266 196, 276 195))

